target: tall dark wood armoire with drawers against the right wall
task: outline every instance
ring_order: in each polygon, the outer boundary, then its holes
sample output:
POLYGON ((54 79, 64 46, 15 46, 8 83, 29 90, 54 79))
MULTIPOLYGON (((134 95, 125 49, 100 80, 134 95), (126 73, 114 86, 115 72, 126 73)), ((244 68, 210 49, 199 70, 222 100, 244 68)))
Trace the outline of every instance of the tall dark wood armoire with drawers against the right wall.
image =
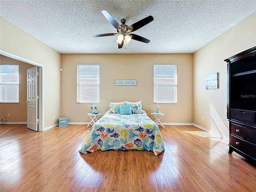
POLYGON ((229 153, 256 161, 256 47, 228 59, 229 153))

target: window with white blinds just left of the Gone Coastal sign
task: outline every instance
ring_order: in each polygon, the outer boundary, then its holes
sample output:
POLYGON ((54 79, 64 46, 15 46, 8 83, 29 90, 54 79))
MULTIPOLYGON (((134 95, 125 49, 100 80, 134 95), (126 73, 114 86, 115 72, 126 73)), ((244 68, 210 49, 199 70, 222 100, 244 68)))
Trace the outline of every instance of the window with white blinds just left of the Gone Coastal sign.
POLYGON ((77 103, 100 102, 100 64, 77 64, 77 103))

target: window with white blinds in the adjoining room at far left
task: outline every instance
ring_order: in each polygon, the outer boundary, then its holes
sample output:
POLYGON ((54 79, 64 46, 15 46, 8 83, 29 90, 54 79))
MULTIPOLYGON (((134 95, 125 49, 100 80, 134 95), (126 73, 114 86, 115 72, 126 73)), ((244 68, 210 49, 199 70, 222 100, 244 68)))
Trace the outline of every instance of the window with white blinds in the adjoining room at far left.
POLYGON ((19 102, 19 65, 0 65, 0 102, 19 102))

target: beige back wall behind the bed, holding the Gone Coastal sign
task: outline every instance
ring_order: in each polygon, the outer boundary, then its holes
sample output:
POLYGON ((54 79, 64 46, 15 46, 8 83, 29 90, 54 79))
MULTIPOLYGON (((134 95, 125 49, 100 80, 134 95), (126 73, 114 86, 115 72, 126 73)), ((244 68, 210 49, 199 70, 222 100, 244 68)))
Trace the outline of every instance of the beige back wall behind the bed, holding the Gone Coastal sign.
POLYGON ((159 104, 165 113, 162 122, 191 123, 193 110, 192 54, 62 54, 61 114, 69 122, 89 122, 92 104, 76 103, 76 64, 100 64, 100 103, 104 114, 109 102, 142 100, 142 109, 150 115, 153 103, 153 65, 176 63, 177 103, 159 104), (138 80, 138 86, 114 86, 114 80, 138 80))

